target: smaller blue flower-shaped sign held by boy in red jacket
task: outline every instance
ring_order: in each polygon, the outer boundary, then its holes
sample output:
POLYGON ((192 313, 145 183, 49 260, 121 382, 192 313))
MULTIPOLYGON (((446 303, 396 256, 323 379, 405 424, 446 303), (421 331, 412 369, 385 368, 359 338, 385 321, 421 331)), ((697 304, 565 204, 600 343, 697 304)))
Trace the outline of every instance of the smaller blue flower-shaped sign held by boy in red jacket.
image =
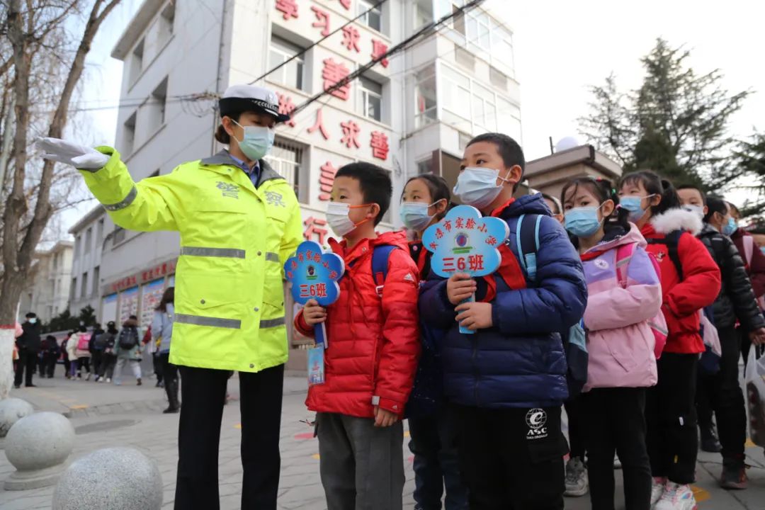
POLYGON ((296 303, 306 304, 317 300, 327 307, 340 297, 337 280, 343 276, 345 263, 340 255, 324 253, 313 241, 301 242, 295 256, 285 263, 287 281, 292 283, 292 298, 296 303))

